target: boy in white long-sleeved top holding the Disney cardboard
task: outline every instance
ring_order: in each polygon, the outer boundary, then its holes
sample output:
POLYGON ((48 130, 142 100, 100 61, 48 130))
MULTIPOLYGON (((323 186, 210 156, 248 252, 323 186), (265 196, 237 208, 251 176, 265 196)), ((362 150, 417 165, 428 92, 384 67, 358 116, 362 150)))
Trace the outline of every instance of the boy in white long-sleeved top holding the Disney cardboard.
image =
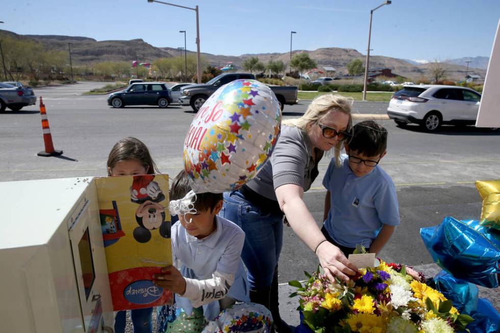
POLYGON ((205 320, 211 321, 236 301, 249 301, 240 259, 245 234, 233 222, 216 216, 222 209, 222 194, 194 196, 190 190, 183 170, 170 189, 170 210, 180 222, 171 229, 172 259, 178 269, 165 267, 154 278, 158 287, 176 294, 184 318, 203 309, 205 320), (186 197, 188 192, 191 196, 186 197))

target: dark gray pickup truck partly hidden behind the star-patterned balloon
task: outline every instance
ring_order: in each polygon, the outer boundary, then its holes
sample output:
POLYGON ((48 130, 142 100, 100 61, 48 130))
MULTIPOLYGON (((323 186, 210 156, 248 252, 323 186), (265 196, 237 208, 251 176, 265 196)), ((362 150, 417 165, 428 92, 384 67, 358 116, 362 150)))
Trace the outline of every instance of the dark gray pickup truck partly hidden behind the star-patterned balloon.
MULTIPOLYGON (((194 112, 198 112, 199 108, 202 107, 215 90, 231 81, 239 79, 255 80, 255 75, 248 73, 224 73, 215 76, 215 78, 205 84, 182 87, 179 104, 183 106, 190 105, 194 112)), ((297 103, 297 87, 269 86, 269 88, 271 88, 276 98, 278 98, 281 110, 283 110, 285 104, 294 105, 297 103)))

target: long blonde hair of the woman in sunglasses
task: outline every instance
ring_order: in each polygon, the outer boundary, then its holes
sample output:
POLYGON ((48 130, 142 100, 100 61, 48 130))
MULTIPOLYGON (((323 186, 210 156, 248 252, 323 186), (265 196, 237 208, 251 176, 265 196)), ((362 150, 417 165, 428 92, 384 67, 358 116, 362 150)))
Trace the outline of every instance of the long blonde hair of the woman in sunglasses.
MULTIPOLYGON (((308 133, 312 126, 318 124, 327 114, 334 111, 345 113, 349 116, 346 132, 352 132, 353 118, 351 115, 351 106, 353 98, 334 94, 324 94, 313 99, 306 113, 300 118, 288 119, 283 122, 284 125, 294 126, 308 133)), ((340 167, 340 151, 343 142, 339 141, 335 145, 335 164, 340 167)))

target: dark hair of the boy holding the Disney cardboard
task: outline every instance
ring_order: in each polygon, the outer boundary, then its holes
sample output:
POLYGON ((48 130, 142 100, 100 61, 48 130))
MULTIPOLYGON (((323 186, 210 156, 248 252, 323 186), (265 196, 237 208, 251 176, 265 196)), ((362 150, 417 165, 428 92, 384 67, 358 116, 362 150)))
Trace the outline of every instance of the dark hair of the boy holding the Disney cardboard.
MULTIPOLYGON (((179 172, 179 174, 175 178, 173 178, 172 186, 170 187, 170 200, 181 199, 189 191, 191 191, 191 186, 189 185, 189 177, 186 171, 181 170, 181 172, 179 172)), ((196 193, 194 209, 196 209, 197 211, 210 210, 210 212, 212 212, 220 200, 223 200, 222 193, 196 193)))

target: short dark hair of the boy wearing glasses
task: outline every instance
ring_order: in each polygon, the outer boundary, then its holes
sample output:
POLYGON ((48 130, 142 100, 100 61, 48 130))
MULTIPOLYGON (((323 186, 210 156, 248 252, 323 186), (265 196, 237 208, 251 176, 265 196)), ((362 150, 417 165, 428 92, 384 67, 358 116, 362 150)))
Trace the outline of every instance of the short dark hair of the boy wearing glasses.
POLYGON ((364 156, 381 155, 387 148, 387 130, 373 120, 358 122, 348 147, 364 156))

